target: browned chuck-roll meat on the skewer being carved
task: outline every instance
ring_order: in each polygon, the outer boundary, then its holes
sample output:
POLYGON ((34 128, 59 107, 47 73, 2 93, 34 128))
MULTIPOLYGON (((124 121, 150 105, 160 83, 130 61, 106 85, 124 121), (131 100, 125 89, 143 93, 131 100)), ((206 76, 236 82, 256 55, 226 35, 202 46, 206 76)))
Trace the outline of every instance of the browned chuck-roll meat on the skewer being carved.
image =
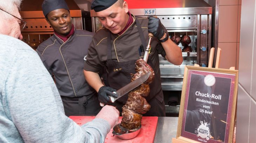
POLYGON ((136 61, 135 71, 135 74, 131 74, 131 81, 136 80, 149 71, 150 75, 144 83, 129 92, 128 100, 122 107, 123 118, 121 121, 121 126, 130 130, 140 127, 142 114, 145 114, 150 109, 150 105, 144 97, 149 95, 149 84, 153 82, 155 77, 154 70, 143 59, 136 61))

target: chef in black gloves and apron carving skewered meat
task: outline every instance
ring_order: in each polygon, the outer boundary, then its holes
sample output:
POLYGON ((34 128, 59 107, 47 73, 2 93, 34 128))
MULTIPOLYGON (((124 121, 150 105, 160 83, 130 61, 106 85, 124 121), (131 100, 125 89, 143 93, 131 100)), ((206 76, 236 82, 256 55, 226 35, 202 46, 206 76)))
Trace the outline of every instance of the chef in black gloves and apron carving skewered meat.
POLYGON ((146 100, 151 105, 146 116, 165 116, 163 92, 161 88, 159 54, 169 62, 180 65, 183 61, 180 47, 173 43, 167 30, 155 17, 136 17, 128 10, 123 0, 94 0, 91 5, 104 28, 98 30, 88 49, 84 64, 87 82, 98 92, 99 101, 114 105, 121 112, 128 96, 111 103, 108 96, 130 83, 131 73, 135 73, 135 61, 144 57, 149 41, 148 33, 153 33, 148 64, 154 69, 155 79, 150 84, 146 100), (106 67, 109 86, 101 83, 97 74, 106 67))

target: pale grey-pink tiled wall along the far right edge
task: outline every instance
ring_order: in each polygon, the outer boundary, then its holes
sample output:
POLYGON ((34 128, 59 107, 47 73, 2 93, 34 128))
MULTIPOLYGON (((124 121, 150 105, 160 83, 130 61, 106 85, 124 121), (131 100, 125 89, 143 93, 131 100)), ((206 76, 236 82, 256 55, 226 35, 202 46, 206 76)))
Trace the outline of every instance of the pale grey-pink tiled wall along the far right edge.
MULTIPOLYGON (((241 4, 239 2, 238 4, 241 4)), ((256 2, 242 0, 236 142, 256 142, 256 2)), ((238 37, 239 38, 239 37, 238 37)))

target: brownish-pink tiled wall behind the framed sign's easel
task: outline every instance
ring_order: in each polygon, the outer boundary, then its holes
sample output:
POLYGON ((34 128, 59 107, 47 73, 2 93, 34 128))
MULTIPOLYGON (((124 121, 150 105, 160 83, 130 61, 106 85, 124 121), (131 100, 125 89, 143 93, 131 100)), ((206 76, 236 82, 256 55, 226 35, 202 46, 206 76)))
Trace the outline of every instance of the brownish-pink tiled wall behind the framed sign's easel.
POLYGON ((219 2, 218 47, 222 50, 219 68, 238 69, 241 0, 219 0, 219 2))

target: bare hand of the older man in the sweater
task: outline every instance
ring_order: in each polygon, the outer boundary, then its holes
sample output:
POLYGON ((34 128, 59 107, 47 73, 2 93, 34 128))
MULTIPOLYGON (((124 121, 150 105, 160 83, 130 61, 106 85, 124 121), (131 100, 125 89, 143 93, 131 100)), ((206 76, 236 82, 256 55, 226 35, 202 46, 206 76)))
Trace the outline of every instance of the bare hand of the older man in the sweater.
POLYGON ((119 111, 115 107, 105 105, 95 118, 105 119, 110 124, 110 128, 113 128, 118 123, 118 117, 119 111))

